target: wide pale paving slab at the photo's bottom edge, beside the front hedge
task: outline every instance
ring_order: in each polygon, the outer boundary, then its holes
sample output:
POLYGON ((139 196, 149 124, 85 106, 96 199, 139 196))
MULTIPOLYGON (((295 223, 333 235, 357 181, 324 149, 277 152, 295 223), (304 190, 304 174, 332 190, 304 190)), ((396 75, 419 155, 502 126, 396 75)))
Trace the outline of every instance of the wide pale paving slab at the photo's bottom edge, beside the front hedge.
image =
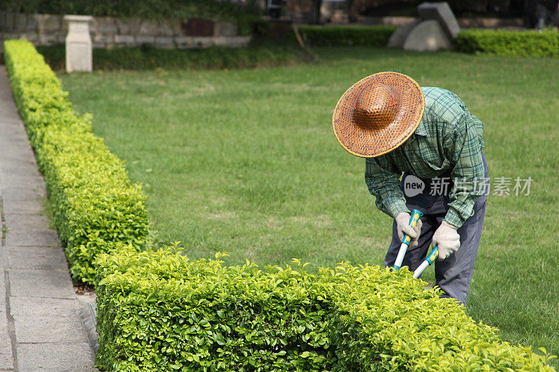
POLYGON ((94 370, 94 358, 89 343, 17 344, 20 371, 89 372, 94 370))

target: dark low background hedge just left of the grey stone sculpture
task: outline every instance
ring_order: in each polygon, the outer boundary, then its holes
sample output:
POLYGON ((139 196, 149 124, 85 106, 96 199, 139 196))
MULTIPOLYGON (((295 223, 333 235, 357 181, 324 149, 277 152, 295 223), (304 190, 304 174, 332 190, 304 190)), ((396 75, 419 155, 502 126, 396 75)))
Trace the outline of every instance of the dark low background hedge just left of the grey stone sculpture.
POLYGON ((305 43, 315 47, 361 45, 386 47, 392 26, 300 26, 305 43))

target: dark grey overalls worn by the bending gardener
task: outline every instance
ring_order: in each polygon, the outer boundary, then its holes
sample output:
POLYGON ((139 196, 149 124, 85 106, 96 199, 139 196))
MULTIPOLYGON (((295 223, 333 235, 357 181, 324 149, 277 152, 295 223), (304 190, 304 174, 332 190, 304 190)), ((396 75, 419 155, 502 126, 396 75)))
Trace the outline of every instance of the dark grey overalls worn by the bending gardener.
MULTIPOLYGON (((487 182, 488 165, 483 153, 481 156, 484 159, 485 179, 487 182)), ((407 173, 404 173, 402 176, 402 192, 407 175, 407 173)), ((450 174, 444 174, 442 177, 450 177, 450 174)), ((448 193, 446 195, 430 195, 432 179, 421 180, 426 184, 425 189, 419 195, 411 198, 405 196, 406 205, 410 211, 418 209, 424 214, 421 217, 423 226, 421 227, 421 236, 418 240, 419 245, 414 248, 408 248, 404 262, 402 262, 402 267, 407 266, 410 271, 414 271, 427 255, 433 234, 449 210, 450 198, 448 193)), ((452 184, 450 184, 448 190, 450 191, 451 189, 452 184)), ((486 200, 487 193, 484 193, 474 204, 474 215, 458 228, 458 235, 460 235, 460 248, 458 248, 458 251, 451 254, 444 261, 435 262, 435 280, 437 285, 444 291, 441 297, 452 297, 466 304, 467 294, 470 291, 470 281, 472 281, 472 274, 474 272, 479 239, 481 237, 481 227, 484 224, 486 200)), ((401 241, 398 239, 398 231, 394 222, 392 242, 388 253, 386 253, 386 258, 384 258, 384 265, 386 267, 394 265, 400 244, 401 241)))

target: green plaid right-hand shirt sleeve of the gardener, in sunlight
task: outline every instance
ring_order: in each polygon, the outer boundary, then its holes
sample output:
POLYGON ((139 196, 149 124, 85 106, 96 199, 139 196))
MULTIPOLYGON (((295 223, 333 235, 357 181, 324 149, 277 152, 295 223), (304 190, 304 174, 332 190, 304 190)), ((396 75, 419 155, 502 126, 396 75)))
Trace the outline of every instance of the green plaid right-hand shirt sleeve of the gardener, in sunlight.
POLYGON ((484 189, 476 185, 483 184, 485 170, 476 118, 465 112, 456 123, 443 142, 444 151, 454 164, 451 172, 454 187, 444 220, 459 228, 474 214, 474 204, 484 194, 484 189))

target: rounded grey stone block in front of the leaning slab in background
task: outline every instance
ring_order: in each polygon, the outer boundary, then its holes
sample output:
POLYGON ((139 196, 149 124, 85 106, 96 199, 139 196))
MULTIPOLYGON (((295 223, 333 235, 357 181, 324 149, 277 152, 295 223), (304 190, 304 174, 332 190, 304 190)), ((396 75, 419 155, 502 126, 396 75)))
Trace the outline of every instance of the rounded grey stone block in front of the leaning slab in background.
POLYGON ((436 20, 427 20, 419 23, 409 33, 404 50, 416 52, 435 52, 436 50, 451 50, 452 41, 436 20))

